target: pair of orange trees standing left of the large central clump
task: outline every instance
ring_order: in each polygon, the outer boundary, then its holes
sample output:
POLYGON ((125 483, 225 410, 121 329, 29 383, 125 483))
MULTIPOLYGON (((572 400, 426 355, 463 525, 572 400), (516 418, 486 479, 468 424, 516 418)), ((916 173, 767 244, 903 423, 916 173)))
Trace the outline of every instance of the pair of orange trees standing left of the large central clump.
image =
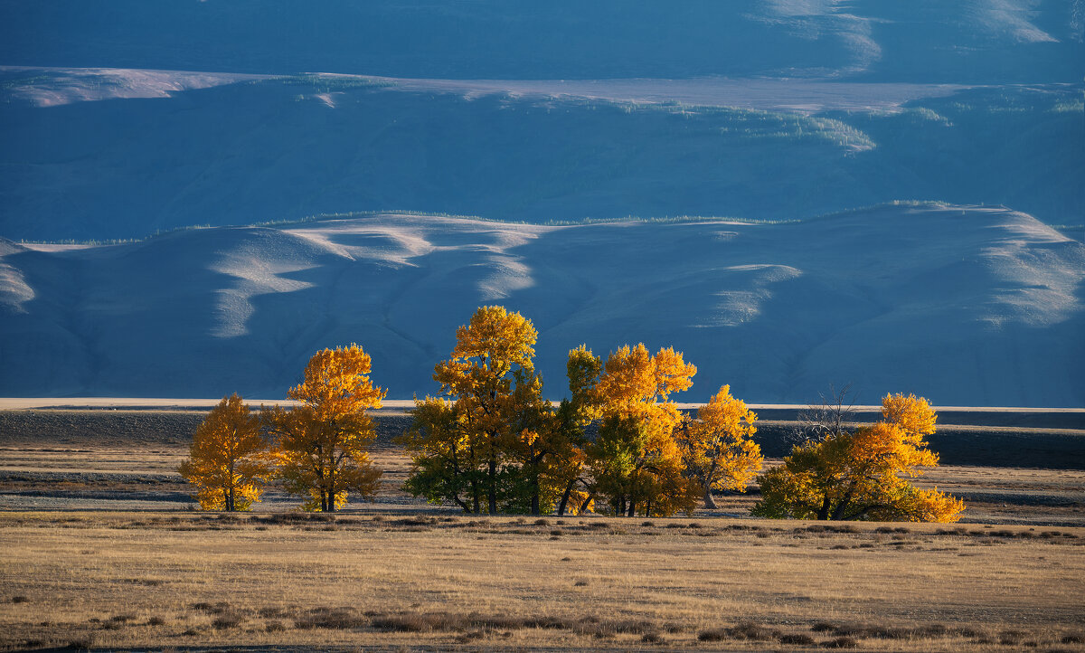
POLYGON ((298 404, 261 406, 258 417, 238 395, 225 397, 178 470, 196 487, 200 507, 248 510, 272 478, 302 497, 305 510, 333 512, 348 492, 375 495, 381 470, 369 459, 375 430, 366 410, 380 408, 385 390, 370 381, 370 366, 357 345, 318 351, 286 393, 298 404))

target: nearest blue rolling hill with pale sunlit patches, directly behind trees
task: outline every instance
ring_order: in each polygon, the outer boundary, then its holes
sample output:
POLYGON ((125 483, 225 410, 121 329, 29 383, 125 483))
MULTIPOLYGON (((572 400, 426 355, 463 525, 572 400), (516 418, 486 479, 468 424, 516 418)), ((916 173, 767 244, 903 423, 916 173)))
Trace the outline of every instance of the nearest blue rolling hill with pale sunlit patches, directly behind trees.
POLYGON ((853 383, 860 401, 1085 406, 1085 246, 1006 209, 888 205, 788 223, 532 226, 417 215, 187 230, 101 246, 0 242, 0 395, 283 396, 357 342, 390 397, 475 307, 564 360, 674 345, 755 402, 853 383))

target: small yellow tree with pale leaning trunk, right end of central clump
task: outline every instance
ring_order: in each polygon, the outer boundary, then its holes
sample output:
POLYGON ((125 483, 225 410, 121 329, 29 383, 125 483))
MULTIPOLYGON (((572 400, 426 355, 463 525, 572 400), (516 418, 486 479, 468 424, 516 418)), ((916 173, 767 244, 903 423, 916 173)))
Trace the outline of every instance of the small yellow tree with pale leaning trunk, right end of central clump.
POLYGON ((762 466, 761 447, 751 439, 757 415, 730 389, 720 387, 698 409, 697 418, 684 420, 678 430, 686 474, 700 484, 705 508, 716 508, 712 490, 745 491, 762 466))

